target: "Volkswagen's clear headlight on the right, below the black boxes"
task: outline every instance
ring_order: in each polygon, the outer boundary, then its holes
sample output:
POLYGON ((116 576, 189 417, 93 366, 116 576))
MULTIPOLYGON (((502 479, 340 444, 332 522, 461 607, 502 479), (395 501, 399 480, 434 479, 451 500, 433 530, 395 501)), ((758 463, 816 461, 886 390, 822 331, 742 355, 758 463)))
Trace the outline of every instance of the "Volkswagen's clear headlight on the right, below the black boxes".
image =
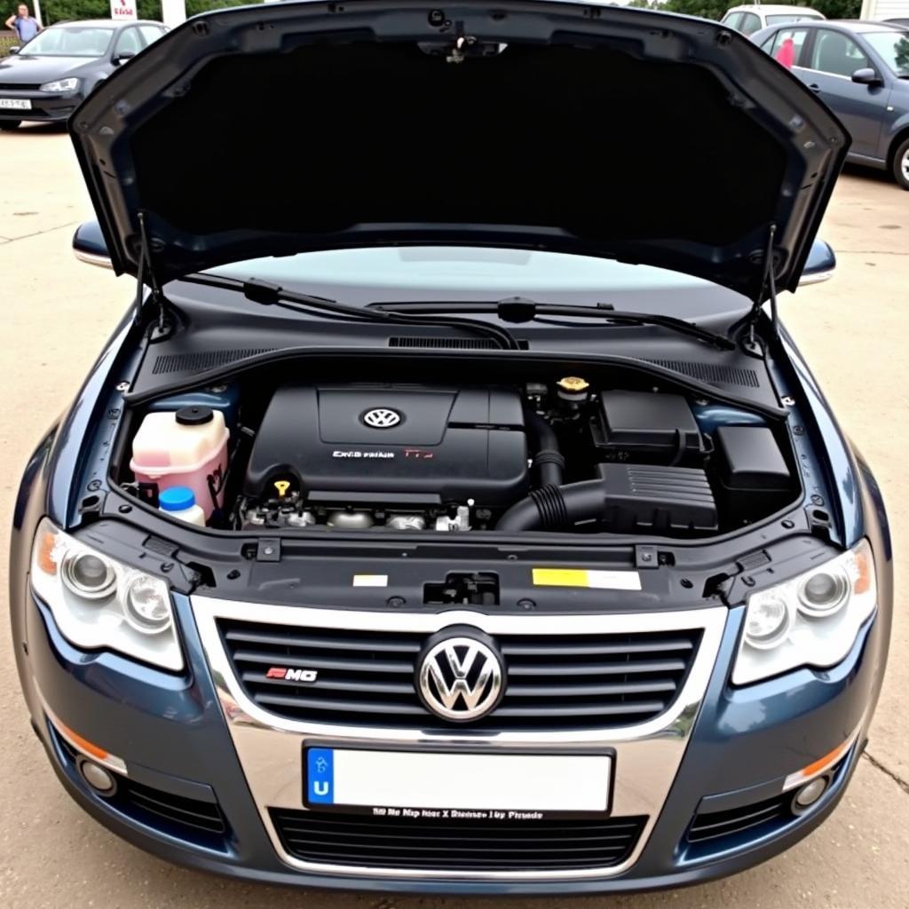
POLYGON ((784 584, 748 597, 733 684, 799 666, 844 660, 877 605, 874 556, 867 540, 784 584))

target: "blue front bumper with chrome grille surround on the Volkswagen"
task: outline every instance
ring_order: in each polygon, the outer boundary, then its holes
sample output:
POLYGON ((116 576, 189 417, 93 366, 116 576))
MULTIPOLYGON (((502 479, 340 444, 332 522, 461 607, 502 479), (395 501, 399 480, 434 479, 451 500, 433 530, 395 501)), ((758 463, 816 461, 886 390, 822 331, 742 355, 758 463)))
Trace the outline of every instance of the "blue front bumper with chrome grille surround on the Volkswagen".
MULTIPOLYGON (((842 795, 861 753, 886 650, 884 623, 873 620, 834 670, 804 670, 734 690, 727 675, 742 610, 674 614, 688 622, 697 616, 704 640, 700 662, 668 714, 646 727, 559 734, 556 742, 551 734, 546 736, 549 747, 608 746, 614 751, 612 814, 646 817, 626 861, 568 874, 414 873, 320 866, 285 853, 267 809, 302 807, 302 745, 314 730, 263 714, 235 683, 215 639, 214 620, 215 615, 242 610, 242 604, 203 598, 191 604, 176 596, 175 605, 189 666, 184 679, 115 654, 81 653, 65 642, 43 604, 27 605, 28 664, 33 675, 26 687, 31 684, 33 690, 26 694, 57 774, 101 823, 171 861, 249 879, 326 888, 468 894, 624 892, 696 883, 758 864, 808 834, 842 795), (162 823, 160 816, 136 813, 124 801, 94 794, 76 770, 72 749, 67 750, 55 733, 54 722, 122 756, 135 785, 177 799, 216 804, 225 821, 223 833, 187 833, 179 824, 162 823), (706 844, 689 842, 686 834, 699 810, 729 812, 772 801, 788 774, 852 735, 855 744, 811 811, 780 815, 774 824, 755 827, 751 833, 706 844)), ((263 610, 296 607, 256 608, 258 620, 263 610)), ((662 614, 660 623, 666 620, 662 614)), ((320 738, 325 732, 317 730, 320 738)), ((439 741, 438 735, 381 728, 357 729, 355 734, 334 729, 335 742, 338 738, 343 744, 366 740, 373 745, 439 741)), ((504 739, 499 734, 495 741, 479 745, 472 741, 481 748, 546 744, 530 742, 526 734, 504 739)), ((463 747, 464 737, 448 734, 442 738, 446 743, 463 747)))

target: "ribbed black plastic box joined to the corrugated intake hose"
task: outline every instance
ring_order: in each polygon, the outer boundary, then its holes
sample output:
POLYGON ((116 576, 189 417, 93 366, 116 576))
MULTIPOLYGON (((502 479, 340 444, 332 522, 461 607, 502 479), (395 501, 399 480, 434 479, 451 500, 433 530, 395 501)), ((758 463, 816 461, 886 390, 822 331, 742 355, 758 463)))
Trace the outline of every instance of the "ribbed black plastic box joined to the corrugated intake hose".
POLYGON ((654 464, 600 464, 597 470, 606 487, 604 530, 658 534, 719 526, 703 470, 654 464))

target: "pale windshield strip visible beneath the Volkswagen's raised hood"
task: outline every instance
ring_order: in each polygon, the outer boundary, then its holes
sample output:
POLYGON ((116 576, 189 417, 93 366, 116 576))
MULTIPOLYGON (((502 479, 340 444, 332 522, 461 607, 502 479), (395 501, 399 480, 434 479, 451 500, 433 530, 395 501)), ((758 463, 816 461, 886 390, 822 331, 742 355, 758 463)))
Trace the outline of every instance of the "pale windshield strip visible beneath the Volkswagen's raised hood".
POLYGON ((251 259, 212 269, 342 303, 494 301, 596 305, 692 319, 750 302, 725 287, 650 265, 595 256, 467 246, 373 247, 251 259))

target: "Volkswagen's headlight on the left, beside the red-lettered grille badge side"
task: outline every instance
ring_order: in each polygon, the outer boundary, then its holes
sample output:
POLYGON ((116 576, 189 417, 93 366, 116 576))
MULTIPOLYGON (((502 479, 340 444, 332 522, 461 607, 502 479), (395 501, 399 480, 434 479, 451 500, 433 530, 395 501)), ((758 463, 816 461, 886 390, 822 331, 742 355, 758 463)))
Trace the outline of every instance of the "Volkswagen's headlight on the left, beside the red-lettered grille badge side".
POLYGON ((183 668, 165 581, 80 543, 46 518, 32 547, 32 586, 75 646, 183 668))

